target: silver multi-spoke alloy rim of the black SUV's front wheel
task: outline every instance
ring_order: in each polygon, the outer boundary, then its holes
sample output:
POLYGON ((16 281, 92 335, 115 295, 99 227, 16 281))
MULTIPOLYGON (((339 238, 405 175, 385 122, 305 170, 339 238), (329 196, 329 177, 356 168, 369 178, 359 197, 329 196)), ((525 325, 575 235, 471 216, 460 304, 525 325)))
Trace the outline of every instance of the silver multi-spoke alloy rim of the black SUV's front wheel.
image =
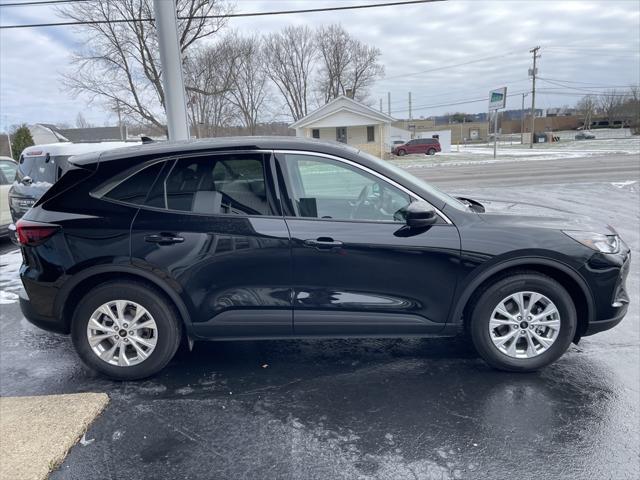
POLYGON ((560 312, 545 295, 516 292, 502 299, 489 320, 493 345, 512 358, 533 358, 558 338, 560 312))

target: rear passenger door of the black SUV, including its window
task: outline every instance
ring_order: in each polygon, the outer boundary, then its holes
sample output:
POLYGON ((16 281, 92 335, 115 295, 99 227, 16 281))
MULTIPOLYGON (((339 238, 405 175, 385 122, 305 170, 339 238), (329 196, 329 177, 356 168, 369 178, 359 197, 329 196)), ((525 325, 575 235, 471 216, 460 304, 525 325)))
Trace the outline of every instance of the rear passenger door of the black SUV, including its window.
POLYGON ((292 332, 289 235, 269 159, 179 158, 133 222, 132 262, 180 292, 196 336, 292 332))

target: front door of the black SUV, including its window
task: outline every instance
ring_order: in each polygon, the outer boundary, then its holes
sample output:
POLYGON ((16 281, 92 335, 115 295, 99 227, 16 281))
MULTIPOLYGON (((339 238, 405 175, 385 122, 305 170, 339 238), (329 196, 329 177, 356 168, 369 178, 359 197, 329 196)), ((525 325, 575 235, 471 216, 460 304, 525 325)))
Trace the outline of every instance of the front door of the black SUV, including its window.
POLYGON ((407 232, 416 198, 339 159, 278 154, 296 335, 437 333, 456 286, 455 226, 407 232))

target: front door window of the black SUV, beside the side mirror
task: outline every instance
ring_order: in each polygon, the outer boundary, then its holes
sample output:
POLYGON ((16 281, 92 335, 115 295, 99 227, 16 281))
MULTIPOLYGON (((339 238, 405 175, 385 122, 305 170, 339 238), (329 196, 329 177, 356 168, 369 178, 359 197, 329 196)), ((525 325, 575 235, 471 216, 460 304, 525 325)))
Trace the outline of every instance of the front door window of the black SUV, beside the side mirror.
POLYGON ((285 155, 298 216, 335 220, 398 221, 411 197, 384 180, 343 162, 285 155))

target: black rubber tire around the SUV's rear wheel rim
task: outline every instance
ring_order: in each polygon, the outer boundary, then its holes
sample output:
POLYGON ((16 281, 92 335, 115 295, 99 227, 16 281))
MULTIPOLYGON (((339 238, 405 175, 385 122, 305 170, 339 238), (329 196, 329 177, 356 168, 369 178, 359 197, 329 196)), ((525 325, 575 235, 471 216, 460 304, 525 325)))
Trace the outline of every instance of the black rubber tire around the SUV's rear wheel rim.
POLYGON ((71 324, 73 345, 84 364, 116 380, 139 380, 158 373, 175 355, 181 332, 173 305, 153 287, 132 281, 103 283, 89 291, 76 308, 71 324), (111 365, 100 359, 89 345, 87 324, 91 315, 98 307, 113 300, 129 300, 143 306, 156 322, 156 346, 149 357, 137 365, 111 365))

